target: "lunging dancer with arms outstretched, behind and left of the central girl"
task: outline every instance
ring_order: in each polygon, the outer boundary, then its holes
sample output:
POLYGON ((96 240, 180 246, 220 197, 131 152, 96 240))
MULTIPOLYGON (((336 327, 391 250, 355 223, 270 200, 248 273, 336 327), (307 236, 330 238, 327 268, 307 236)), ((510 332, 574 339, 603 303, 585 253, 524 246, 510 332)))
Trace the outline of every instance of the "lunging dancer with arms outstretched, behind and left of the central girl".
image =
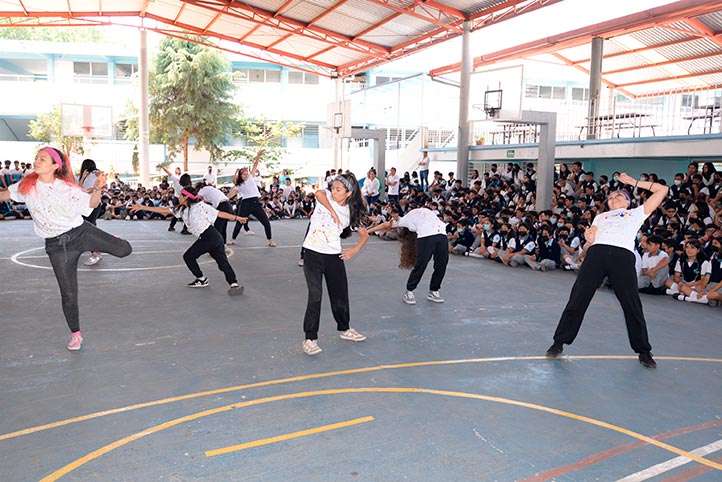
POLYGON ((188 283, 190 288, 205 288, 208 286, 208 278, 203 276, 200 266, 198 266, 198 258, 208 253, 218 263, 218 269, 223 271, 226 281, 230 285, 228 294, 231 296, 242 295, 243 286, 238 285, 236 273, 233 272, 231 264, 226 257, 226 248, 218 230, 213 226, 215 220, 219 217, 228 219, 229 221, 246 222, 246 218, 235 216, 233 214, 218 211, 202 201, 202 197, 198 196, 196 190, 192 187, 184 187, 180 196, 178 196, 179 206, 174 209, 161 208, 154 206, 143 206, 141 204, 133 205, 130 210, 132 212, 143 210, 151 211, 159 214, 172 214, 188 227, 191 234, 198 236, 195 243, 183 253, 183 261, 185 261, 188 269, 196 277, 195 281, 188 283))

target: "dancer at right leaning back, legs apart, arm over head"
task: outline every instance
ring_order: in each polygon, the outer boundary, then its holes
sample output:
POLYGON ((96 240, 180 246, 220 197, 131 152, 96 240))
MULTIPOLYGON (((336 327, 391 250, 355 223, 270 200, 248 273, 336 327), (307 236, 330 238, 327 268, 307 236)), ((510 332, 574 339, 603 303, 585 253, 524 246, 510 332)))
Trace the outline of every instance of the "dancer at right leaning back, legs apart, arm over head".
POLYGON ((620 189, 609 194, 609 211, 598 214, 584 233, 589 243, 587 255, 554 333, 554 344, 546 354, 556 357, 562 353, 564 344, 572 344, 595 291, 607 277, 622 305, 632 350, 639 354, 642 365, 656 368, 637 291, 634 240, 644 220, 664 200, 668 188, 654 182, 637 181, 626 173, 619 176, 619 182, 634 186, 635 190, 639 187, 652 191, 652 195, 643 205, 629 209, 631 198, 627 191, 620 189))

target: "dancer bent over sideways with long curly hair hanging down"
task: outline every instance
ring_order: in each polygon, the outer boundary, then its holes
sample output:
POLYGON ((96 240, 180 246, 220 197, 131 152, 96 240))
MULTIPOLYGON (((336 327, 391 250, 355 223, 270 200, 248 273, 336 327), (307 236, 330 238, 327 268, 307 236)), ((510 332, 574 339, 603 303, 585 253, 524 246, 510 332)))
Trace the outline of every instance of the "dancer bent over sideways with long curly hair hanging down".
POLYGON ((446 274, 446 265, 449 262, 446 224, 430 209, 420 207, 412 209, 398 220, 386 221, 368 231, 382 231, 392 227, 399 228, 397 231, 397 236, 401 241, 399 268, 413 268, 406 281, 404 302, 409 305, 416 304, 414 290, 419 285, 426 266, 433 257, 434 272, 431 275, 431 284, 426 298, 435 303, 443 303, 444 299, 439 294, 439 290, 446 274))

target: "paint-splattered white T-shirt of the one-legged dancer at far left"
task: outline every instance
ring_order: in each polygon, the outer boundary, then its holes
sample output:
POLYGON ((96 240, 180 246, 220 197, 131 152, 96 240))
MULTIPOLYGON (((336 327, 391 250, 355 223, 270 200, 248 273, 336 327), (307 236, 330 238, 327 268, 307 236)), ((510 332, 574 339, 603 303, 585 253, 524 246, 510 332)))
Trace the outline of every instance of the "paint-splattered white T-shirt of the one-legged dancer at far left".
POLYGON ((33 217, 35 234, 54 238, 83 224, 83 216, 90 216, 90 194, 79 186, 68 185, 60 179, 52 184, 37 181, 29 193, 20 194, 20 184, 8 187, 10 199, 25 203, 33 217))

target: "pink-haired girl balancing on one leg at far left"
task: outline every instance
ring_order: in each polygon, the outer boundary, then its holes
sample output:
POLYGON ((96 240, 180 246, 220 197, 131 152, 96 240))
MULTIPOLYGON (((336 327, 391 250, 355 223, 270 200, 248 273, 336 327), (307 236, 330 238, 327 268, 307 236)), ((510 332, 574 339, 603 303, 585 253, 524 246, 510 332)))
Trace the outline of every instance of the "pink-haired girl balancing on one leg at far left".
POLYGON ((35 155, 34 172, 22 181, 0 191, 0 201, 24 202, 33 217, 35 233, 45 238, 45 252, 60 286, 60 298, 70 332, 68 350, 80 350, 78 310, 78 260, 85 251, 108 253, 119 258, 128 256, 128 241, 110 235, 85 222, 100 203, 106 177, 97 172, 92 193, 75 183, 73 170, 65 155, 52 147, 43 147, 35 155))

